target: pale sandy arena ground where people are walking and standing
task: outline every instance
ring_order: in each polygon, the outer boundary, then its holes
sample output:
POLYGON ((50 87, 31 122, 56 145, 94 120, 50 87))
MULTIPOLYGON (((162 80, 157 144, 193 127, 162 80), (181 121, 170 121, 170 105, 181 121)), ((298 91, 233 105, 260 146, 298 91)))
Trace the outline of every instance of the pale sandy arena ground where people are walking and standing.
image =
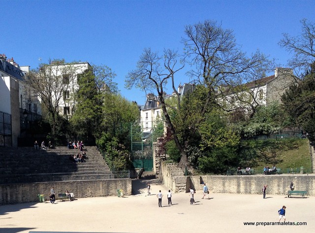
MULTIPOLYGON (((314 233, 315 197, 238 195, 210 193, 202 200, 195 194, 194 205, 189 194, 173 194, 167 205, 167 187, 158 180, 133 180, 136 195, 124 198, 82 198, 51 204, 30 202, 0 205, 0 233, 29 232, 97 232, 97 233, 314 233), (146 183, 152 193, 146 196, 146 183), (156 194, 164 194, 163 207, 158 207, 156 194), (307 226, 245 226, 244 222, 279 221, 278 210, 285 205, 286 221, 306 222, 307 226)), ((267 192, 268 193, 268 192, 267 192)))

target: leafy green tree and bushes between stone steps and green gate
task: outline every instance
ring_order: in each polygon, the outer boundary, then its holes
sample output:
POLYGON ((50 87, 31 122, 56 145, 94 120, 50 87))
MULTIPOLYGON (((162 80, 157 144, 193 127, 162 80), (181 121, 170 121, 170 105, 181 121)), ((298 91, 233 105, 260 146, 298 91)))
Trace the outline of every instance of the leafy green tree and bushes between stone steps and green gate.
POLYGON ((127 170, 130 164, 131 125, 138 120, 138 106, 121 95, 106 93, 102 112, 102 132, 96 143, 112 169, 127 170))

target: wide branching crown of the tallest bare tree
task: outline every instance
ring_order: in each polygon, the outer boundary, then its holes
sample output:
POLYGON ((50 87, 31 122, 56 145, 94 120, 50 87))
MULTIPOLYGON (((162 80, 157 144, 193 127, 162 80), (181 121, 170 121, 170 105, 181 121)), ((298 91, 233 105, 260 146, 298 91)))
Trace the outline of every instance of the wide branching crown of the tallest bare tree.
POLYGON ((188 74, 208 90, 202 115, 209 104, 224 108, 223 102, 229 102, 226 111, 245 108, 254 112, 257 93, 245 84, 264 77, 273 69, 273 62, 259 50, 247 56, 237 45, 233 31, 222 29, 216 21, 189 25, 185 34, 185 61, 192 67, 188 74), (231 95, 241 104, 233 105, 231 95))

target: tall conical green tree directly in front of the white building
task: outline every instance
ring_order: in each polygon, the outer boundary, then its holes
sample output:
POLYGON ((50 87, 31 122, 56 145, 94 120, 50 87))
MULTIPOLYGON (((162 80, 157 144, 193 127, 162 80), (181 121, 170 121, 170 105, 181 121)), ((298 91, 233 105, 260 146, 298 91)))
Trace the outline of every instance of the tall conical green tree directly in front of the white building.
POLYGON ((78 76, 79 90, 76 93, 77 105, 70 119, 76 138, 86 144, 95 144, 95 138, 100 134, 102 116, 102 94, 95 84, 92 70, 86 70, 78 76))

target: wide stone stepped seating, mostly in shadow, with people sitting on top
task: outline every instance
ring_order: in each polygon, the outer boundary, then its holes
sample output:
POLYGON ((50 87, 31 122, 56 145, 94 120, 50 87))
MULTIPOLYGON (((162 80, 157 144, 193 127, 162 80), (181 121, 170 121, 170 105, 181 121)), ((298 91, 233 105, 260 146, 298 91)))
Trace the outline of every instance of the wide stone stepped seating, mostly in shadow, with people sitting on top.
POLYGON ((113 173, 94 146, 86 146, 86 163, 73 163, 76 149, 0 147, 0 184, 111 179, 113 173))

